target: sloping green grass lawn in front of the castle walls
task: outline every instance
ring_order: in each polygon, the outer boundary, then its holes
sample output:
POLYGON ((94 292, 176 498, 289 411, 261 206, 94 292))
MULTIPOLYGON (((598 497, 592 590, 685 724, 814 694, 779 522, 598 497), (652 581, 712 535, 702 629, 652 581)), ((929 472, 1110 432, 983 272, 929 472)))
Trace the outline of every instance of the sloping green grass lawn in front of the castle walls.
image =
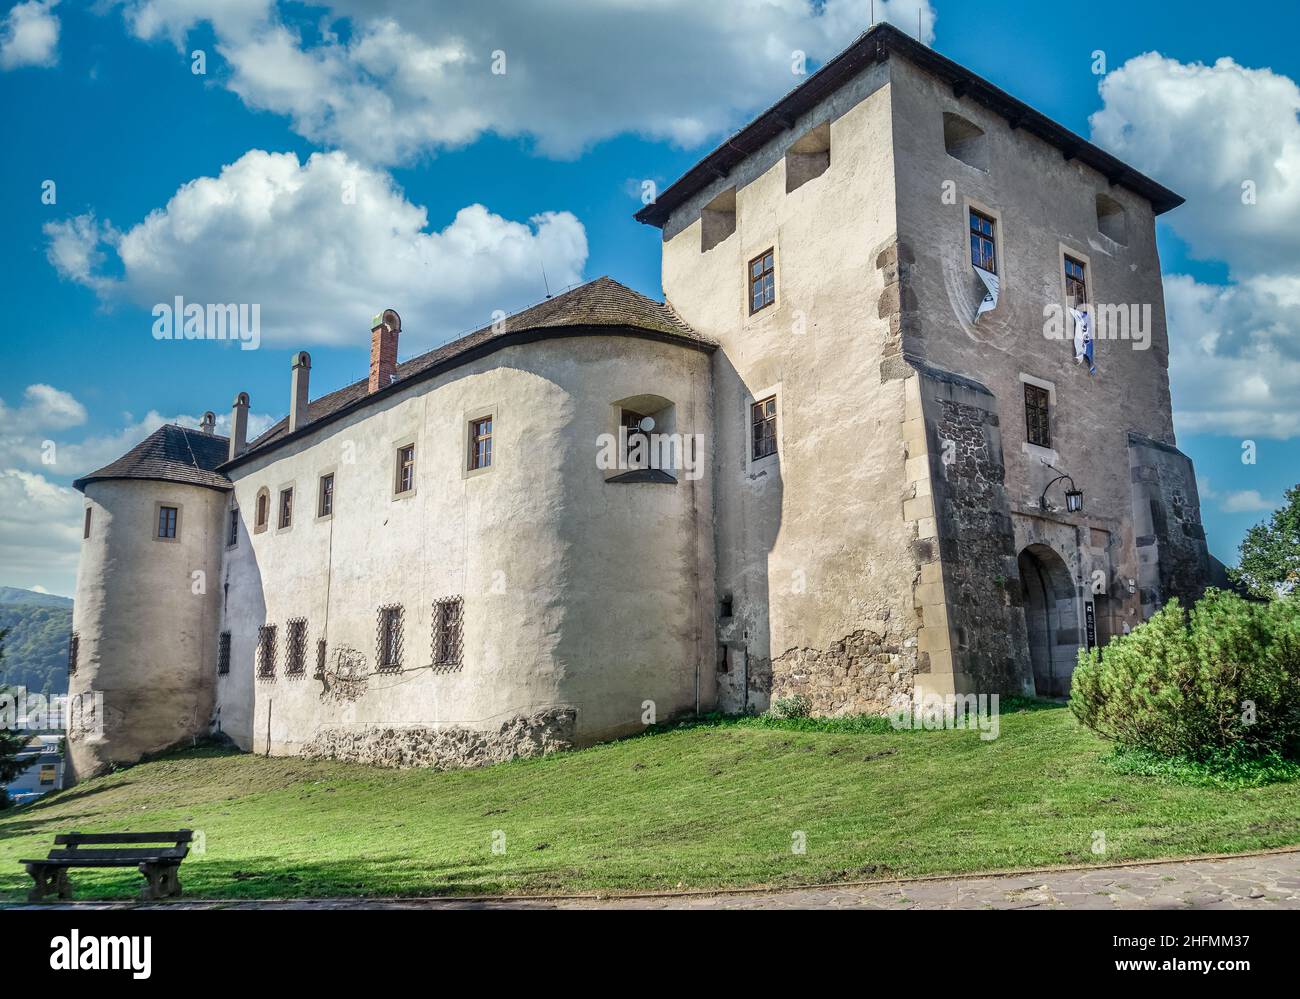
MULTIPOLYGON (((1062 706, 1004 712, 993 741, 866 728, 731 719, 455 773, 178 753, 0 813, 0 899, 26 898, 18 859, 70 830, 199 830, 181 879, 211 898, 783 885, 1300 843, 1300 782, 1123 775, 1062 706)), ((140 881, 73 873, 77 898, 140 881)))

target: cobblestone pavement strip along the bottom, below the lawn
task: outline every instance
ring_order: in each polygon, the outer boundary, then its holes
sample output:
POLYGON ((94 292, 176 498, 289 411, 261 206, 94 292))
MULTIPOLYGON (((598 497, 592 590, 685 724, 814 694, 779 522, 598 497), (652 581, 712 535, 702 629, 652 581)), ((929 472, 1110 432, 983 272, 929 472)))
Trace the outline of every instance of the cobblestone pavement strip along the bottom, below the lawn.
MULTIPOLYGON (((160 904, 191 909, 1300 909, 1300 849, 1123 868, 715 895, 282 901, 195 899, 160 904)), ((84 901, 73 903, 68 908, 157 905, 84 901)), ((42 908, 51 905, 44 904, 42 908)))

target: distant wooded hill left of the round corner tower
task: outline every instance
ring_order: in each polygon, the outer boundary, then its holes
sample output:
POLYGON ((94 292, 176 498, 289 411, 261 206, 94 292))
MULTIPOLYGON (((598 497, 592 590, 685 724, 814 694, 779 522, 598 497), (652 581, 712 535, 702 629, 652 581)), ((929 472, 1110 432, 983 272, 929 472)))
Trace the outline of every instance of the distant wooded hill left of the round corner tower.
POLYGON ((52 593, 0 587, 0 631, 4 628, 9 633, 0 659, 0 687, 66 693, 73 602, 52 593))

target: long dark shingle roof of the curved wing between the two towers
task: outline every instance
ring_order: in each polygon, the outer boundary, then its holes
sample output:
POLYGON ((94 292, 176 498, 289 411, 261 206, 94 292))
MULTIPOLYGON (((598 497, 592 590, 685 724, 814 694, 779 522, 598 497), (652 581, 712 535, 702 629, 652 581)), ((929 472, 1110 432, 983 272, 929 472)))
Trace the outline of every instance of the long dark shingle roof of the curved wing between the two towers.
MULTIPOLYGON (((367 377, 313 399, 308 403, 307 419, 295 436, 315 431, 322 423, 359 408, 372 399, 410 388, 412 380, 433 377, 502 347, 528 343, 546 336, 567 337, 602 333, 680 342, 697 350, 716 347, 714 341, 701 337, 677 319, 664 303, 637 294, 611 277, 598 277, 571 291, 508 316, 499 328, 484 326, 398 364, 398 380, 387 388, 370 393, 367 377)), ((283 419, 252 441, 248 450, 235 458, 229 467, 263 454, 289 438, 289 420, 283 419)))

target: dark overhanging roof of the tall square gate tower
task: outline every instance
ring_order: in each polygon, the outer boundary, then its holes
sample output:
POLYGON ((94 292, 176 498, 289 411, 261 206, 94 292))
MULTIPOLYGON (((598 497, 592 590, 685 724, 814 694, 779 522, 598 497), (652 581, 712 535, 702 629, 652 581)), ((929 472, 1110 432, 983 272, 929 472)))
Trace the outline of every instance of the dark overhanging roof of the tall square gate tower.
POLYGON ((793 127, 800 114, 816 107, 822 99, 833 94, 872 62, 888 59, 890 53, 909 59, 922 69, 933 73, 952 87, 954 95, 970 98, 1005 117, 1013 124, 1013 127, 1031 131, 1044 142, 1052 143, 1061 150, 1061 155, 1067 160, 1079 160, 1101 173, 1110 183, 1122 185, 1140 194, 1150 202, 1156 215, 1183 203, 1180 195, 1139 173, 1123 160, 1093 146, 1082 135, 1058 125, 1024 101, 939 55, 893 25, 880 22, 872 25, 870 30, 859 35, 853 44, 829 60, 803 83, 686 170, 668 189, 660 191, 654 202, 636 213, 636 220, 663 228, 670 216, 692 195, 718 178, 725 177, 746 156, 757 152, 786 129, 793 127))

